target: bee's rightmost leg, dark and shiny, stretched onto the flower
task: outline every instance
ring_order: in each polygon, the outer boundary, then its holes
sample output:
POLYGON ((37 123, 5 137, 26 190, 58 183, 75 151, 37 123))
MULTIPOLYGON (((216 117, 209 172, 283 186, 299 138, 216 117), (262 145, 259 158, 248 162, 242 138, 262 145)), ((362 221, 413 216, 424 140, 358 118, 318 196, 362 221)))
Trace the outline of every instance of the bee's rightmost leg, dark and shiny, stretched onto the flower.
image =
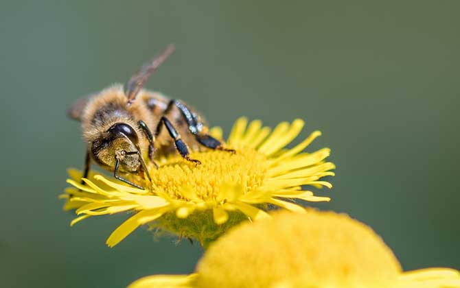
POLYGON ((201 132, 203 123, 198 123, 196 116, 189 110, 189 108, 187 108, 187 106, 182 104, 181 101, 176 100, 176 99, 171 99, 168 103, 168 106, 166 107, 165 114, 170 112, 170 110, 172 109, 172 106, 176 106, 177 108, 179 108, 179 111, 181 111, 182 116, 187 122, 189 131, 192 134, 194 134, 195 139, 196 141, 198 141, 198 143, 210 149, 218 149, 218 150, 235 153, 235 150, 233 149, 224 148, 222 143, 218 141, 218 139, 215 139, 213 136, 207 133, 201 132))

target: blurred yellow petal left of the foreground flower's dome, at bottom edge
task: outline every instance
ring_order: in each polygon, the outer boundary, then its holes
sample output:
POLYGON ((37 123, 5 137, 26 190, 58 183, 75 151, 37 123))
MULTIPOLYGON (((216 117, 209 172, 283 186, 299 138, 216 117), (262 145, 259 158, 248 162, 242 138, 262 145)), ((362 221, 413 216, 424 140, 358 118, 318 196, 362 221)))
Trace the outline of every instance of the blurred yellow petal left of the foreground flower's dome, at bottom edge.
POLYGON ((192 288, 198 274, 190 275, 153 275, 140 278, 128 288, 192 288))

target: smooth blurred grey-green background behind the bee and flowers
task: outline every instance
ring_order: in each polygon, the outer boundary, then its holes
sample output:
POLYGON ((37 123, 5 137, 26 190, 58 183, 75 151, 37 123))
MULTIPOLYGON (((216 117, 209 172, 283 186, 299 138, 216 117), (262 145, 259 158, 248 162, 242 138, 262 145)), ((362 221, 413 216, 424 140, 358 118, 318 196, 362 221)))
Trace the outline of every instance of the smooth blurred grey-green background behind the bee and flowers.
MULTIPOLYGON (((300 117, 331 147, 332 202, 384 238, 404 269, 460 268, 459 1, 2 1, 1 287, 125 287, 192 272, 203 251, 127 215, 69 228, 58 194, 82 167, 66 109, 126 82, 169 43, 147 84, 229 131, 300 117)), ((300 141, 300 139, 299 139, 300 141)))

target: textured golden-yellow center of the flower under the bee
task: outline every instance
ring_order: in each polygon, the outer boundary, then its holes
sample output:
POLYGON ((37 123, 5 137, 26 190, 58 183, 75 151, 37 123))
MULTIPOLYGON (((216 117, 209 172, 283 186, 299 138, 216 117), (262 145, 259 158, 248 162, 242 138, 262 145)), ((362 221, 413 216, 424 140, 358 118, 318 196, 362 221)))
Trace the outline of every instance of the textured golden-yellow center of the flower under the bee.
POLYGON ((194 152, 190 157, 201 164, 185 161, 179 155, 161 159, 159 169, 150 169, 152 190, 181 200, 185 198, 184 189, 189 188, 201 199, 211 200, 222 185, 238 183, 246 193, 262 185, 268 164, 264 154, 244 148, 235 154, 211 150, 194 152))

